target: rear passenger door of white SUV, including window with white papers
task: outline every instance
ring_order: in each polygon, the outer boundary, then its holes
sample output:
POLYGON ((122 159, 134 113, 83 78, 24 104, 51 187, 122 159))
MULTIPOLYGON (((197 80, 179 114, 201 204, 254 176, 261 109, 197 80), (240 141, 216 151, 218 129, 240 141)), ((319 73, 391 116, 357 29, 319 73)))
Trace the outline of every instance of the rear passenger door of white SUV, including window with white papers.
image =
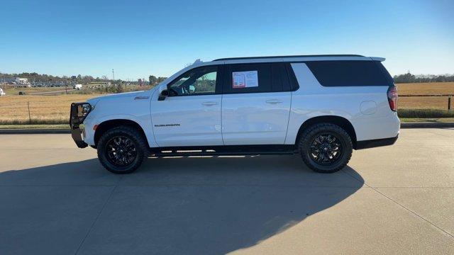
POLYGON ((225 67, 224 145, 283 145, 292 98, 284 64, 226 64, 225 67))

